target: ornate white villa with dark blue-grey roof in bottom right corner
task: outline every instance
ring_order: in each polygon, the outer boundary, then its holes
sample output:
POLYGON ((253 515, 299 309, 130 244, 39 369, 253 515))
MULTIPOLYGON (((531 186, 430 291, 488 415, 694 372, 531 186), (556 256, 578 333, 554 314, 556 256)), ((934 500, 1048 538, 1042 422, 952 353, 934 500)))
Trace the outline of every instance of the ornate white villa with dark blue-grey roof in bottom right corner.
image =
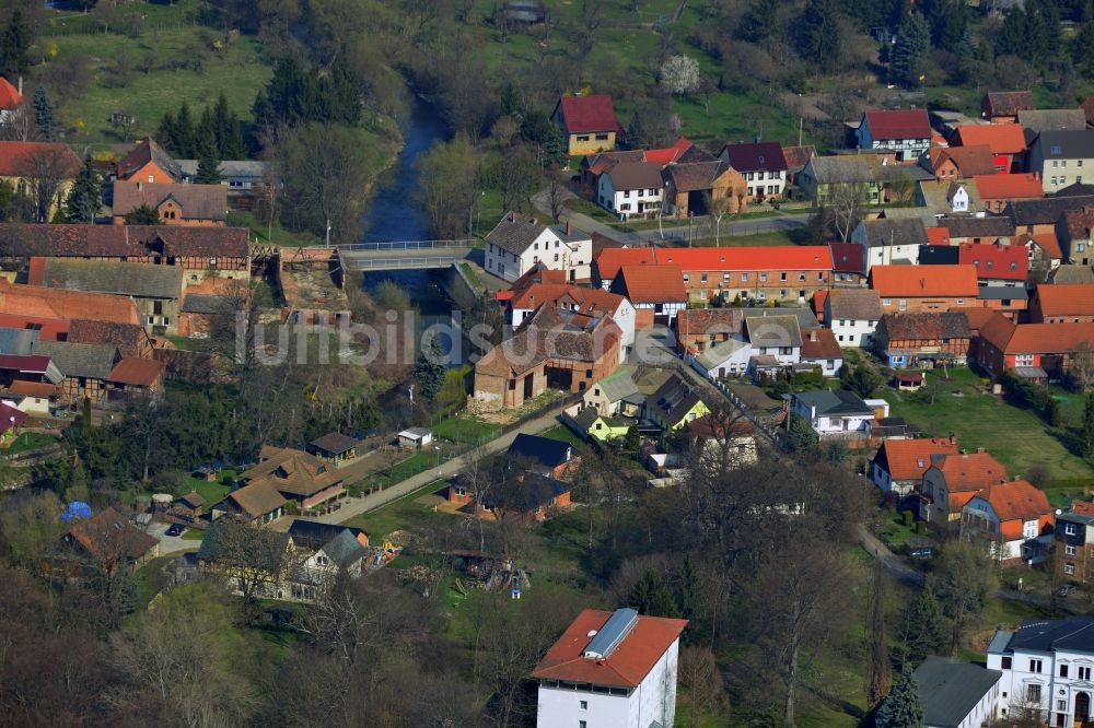
POLYGON ((1094 617, 1027 618, 999 630, 988 645, 988 669, 1003 673, 999 714, 1036 711, 1049 726, 1085 725, 1094 696, 1094 617))

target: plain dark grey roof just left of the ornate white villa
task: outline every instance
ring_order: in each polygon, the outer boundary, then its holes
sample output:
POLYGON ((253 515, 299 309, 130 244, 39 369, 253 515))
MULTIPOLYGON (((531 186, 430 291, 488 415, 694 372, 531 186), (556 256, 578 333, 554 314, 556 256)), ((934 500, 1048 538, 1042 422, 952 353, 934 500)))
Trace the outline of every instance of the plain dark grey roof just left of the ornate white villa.
POLYGON ((951 657, 928 657, 916 668, 923 723, 958 728, 1003 673, 951 657))

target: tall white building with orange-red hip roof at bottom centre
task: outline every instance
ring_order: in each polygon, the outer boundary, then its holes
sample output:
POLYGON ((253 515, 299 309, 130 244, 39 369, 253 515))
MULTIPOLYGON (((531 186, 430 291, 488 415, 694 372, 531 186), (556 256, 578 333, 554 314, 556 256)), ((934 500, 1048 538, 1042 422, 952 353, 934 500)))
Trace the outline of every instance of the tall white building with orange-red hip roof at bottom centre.
POLYGON ((674 725, 686 626, 633 609, 583 610, 532 672, 539 682, 536 727, 674 725))

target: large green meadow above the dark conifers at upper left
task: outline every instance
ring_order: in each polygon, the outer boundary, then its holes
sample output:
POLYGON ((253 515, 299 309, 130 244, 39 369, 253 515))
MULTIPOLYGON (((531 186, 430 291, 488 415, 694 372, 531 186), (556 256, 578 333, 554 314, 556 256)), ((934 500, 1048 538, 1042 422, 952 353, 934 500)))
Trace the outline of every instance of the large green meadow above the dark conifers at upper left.
POLYGON ((136 38, 103 33, 43 37, 40 43, 56 44, 58 59, 82 57, 90 70, 86 90, 60 104, 61 122, 69 131, 66 141, 120 142, 109 124, 114 111, 136 114, 133 136, 153 133, 164 113, 177 110, 185 101, 196 118, 221 91, 240 118, 251 118, 255 94, 272 74, 261 44, 241 36, 223 51, 216 51, 207 43, 210 37, 220 36, 197 25, 144 31, 136 38), (203 59, 200 70, 165 67, 172 59, 186 58, 203 59), (150 70, 141 72, 147 63, 151 63, 150 70), (119 77, 118 66, 130 70, 119 77))

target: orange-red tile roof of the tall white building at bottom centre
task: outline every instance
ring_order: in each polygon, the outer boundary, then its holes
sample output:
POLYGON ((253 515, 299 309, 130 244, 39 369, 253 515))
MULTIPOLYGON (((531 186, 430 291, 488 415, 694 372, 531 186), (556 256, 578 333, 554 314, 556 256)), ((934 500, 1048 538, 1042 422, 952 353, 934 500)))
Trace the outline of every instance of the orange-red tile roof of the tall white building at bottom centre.
POLYGON ((637 688, 687 626, 687 620, 639 617, 627 636, 603 659, 585 658, 590 633, 601 630, 610 617, 612 612, 598 609, 583 610, 547 650, 532 677, 637 688))

